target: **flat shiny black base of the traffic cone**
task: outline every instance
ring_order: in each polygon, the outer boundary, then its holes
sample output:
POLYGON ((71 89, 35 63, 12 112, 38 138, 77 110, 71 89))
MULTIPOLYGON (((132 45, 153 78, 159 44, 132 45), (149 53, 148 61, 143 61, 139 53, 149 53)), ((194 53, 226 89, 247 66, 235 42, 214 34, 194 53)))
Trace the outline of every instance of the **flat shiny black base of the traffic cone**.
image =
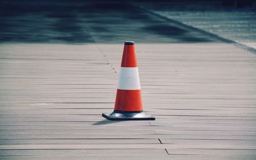
POLYGON ((143 111, 113 111, 111 114, 102 113, 104 118, 108 120, 156 120, 156 118, 143 111))

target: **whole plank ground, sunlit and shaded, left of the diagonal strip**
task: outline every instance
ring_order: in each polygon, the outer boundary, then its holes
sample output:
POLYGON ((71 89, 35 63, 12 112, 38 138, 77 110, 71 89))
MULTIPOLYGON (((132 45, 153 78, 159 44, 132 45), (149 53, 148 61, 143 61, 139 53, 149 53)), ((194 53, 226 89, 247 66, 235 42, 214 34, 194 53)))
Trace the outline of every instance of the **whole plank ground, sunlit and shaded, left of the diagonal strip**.
POLYGON ((256 54, 130 4, 30 5, 1 5, 0 159, 256 158, 256 54), (156 121, 101 116, 125 40, 156 121))

